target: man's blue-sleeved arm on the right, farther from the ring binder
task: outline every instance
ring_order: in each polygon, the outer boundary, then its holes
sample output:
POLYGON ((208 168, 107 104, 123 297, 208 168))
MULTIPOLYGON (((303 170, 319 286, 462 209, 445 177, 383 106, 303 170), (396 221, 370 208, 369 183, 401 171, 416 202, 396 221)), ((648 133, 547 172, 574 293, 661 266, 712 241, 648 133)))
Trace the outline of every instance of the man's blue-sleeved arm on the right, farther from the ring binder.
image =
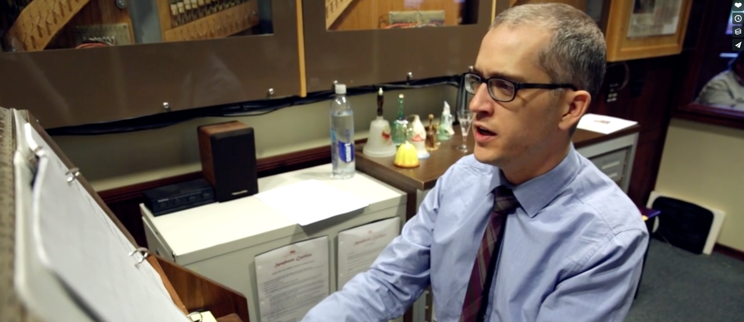
POLYGON ((623 231, 588 254, 580 273, 563 280, 545 298, 537 321, 623 321, 641 278, 648 241, 647 231, 623 231))

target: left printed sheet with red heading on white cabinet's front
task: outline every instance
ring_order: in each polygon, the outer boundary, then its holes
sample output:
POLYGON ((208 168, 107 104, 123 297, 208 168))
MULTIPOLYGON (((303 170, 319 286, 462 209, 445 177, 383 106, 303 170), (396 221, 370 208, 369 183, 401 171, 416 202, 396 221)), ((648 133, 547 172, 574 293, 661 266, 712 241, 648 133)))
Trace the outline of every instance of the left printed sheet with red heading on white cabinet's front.
POLYGON ((297 322, 328 297, 328 236, 255 258, 260 322, 297 322))

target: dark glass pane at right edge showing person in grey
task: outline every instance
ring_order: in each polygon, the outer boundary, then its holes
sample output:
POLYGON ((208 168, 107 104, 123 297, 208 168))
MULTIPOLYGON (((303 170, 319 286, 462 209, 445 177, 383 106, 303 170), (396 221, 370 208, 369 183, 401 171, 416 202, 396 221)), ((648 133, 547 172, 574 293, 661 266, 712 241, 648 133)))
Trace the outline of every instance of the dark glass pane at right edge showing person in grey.
POLYGON ((695 103, 744 111, 744 54, 737 50, 744 49, 744 26, 734 25, 731 17, 729 13, 725 30, 711 35, 711 45, 705 50, 700 68, 695 103))

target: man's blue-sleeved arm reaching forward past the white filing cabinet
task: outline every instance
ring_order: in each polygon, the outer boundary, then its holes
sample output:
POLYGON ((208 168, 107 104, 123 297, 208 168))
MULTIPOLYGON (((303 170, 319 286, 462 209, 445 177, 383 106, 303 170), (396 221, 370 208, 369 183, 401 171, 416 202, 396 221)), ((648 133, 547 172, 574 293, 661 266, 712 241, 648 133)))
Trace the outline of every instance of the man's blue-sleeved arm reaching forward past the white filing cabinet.
POLYGON ((429 249, 445 176, 371 268, 318 303, 302 322, 386 322, 405 313, 430 283, 429 249))

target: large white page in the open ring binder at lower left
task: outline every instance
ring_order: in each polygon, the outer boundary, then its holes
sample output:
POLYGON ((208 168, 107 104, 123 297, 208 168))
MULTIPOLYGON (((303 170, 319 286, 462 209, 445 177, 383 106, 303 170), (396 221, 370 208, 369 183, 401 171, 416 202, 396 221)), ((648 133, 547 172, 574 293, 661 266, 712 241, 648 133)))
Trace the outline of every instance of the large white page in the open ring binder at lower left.
POLYGON ((67 167, 51 149, 38 154, 32 211, 42 262, 97 320, 189 321, 152 280, 147 261, 135 265, 131 243, 76 180, 67 180, 67 167))

